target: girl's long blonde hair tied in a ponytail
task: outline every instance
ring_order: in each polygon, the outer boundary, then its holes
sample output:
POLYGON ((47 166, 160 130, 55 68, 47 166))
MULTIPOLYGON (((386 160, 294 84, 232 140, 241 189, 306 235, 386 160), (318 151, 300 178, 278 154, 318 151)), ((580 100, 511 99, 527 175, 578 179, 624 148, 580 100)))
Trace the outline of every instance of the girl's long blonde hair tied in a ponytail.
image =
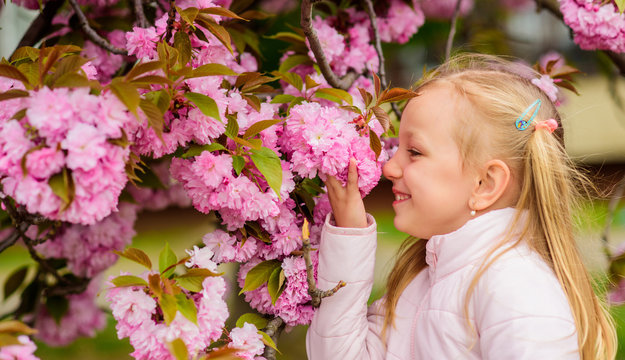
MULTIPOLYGON (((417 91, 433 84, 451 84, 464 100, 457 105, 470 107, 469 111, 458 111, 462 116, 458 116, 455 134, 464 166, 495 157, 510 167, 513 181, 520 186, 516 208, 527 214, 521 221, 521 211, 517 211, 512 222, 511 229, 523 224, 514 245, 527 241, 553 269, 575 318, 581 358, 613 359, 617 347, 614 325, 605 304, 593 291, 573 234, 573 209, 581 198, 578 185, 589 183, 564 150, 560 115, 547 95, 531 83, 536 76, 525 65, 494 56, 465 54, 428 74, 417 91), (534 131, 533 125, 525 131, 515 127, 515 120, 536 99, 542 106, 535 121, 555 119, 560 126, 553 134, 534 131), (489 136, 479 136, 483 134, 489 136)), ((497 250, 509 236, 491 249, 468 288, 464 312, 469 327, 471 295, 480 276, 505 252, 497 250)), ((399 296, 427 266, 426 241, 410 238, 398 252, 387 281, 382 338, 393 325, 399 296)))

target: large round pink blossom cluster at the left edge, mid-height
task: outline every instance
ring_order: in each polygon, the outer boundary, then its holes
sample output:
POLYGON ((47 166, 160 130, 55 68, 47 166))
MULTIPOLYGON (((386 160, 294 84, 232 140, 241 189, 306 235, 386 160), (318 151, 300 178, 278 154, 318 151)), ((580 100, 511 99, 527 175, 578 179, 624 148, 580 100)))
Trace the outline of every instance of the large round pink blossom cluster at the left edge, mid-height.
MULTIPOLYGON (((21 84, 0 80, 0 90, 21 84)), ((129 149, 111 140, 133 126, 112 94, 41 88, 0 105, 3 192, 32 214, 90 225, 117 207, 129 149), (13 115, 26 109, 25 116, 13 115)))

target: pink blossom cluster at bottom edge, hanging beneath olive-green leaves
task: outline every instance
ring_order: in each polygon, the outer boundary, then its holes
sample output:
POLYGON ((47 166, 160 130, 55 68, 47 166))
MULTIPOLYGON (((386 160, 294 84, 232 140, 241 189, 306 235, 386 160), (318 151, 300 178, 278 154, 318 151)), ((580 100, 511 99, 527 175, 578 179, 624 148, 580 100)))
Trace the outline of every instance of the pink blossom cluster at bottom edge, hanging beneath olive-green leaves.
MULTIPOLYGON (((144 274, 147 279, 150 273, 144 274)), ((228 307, 223 300, 226 282, 222 277, 206 277, 202 290, 194 293, 182 290, 179 296, 192 300, 196 307, 194 323, 178 310, 167 325, 157 300, 142 286, 113 287, 106 297, 117 320, 119 338, 129 338, 135 359, 173 359, 168 343, 181 339, 191 357, 208 348, 221 337, 228 318, 228 307)))

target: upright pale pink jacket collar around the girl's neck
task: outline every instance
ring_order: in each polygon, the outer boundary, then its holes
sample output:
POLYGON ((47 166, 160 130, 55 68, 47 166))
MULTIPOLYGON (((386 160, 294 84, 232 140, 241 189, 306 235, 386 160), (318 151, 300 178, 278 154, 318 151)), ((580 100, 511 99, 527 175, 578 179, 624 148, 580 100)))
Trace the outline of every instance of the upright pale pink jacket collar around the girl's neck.
POLYGON ((501 240, 516 211, 514 208, 493 210, 467 221, 454 232, 432 236, 426 244, 425 256, 430 281, 434 283, 481 260, 501 240))

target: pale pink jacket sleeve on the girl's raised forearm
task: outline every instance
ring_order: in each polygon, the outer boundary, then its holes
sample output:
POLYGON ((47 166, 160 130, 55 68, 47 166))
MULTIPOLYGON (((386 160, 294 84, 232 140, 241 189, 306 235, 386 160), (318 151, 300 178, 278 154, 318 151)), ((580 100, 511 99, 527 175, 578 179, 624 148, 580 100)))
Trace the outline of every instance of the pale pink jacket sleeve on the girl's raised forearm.
POLYGON ((317 286, 327 290, 339 281, 346 285, 324 298, 315 312, 306 336, 308 359, 383 359, 383 312, 379 302, 367 310, 377 243, 375 220, 367 215, 367 228, 339 228, 331 224, 330 215, 321 233, 317 286))

